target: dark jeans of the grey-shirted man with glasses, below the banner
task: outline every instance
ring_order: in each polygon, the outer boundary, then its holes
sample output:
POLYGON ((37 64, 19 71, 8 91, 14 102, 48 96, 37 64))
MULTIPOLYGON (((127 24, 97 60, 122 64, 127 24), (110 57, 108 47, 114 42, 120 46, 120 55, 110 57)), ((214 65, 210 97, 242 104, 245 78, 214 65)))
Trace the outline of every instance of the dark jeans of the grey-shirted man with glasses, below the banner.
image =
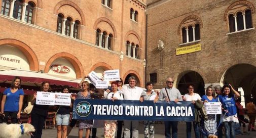
POLYGON ((164 134, 166 138, 171 138, 171 132, 172 132, 172 138, 178 137, 178 122, 176 121, 165 121, 164 122, 164 134))

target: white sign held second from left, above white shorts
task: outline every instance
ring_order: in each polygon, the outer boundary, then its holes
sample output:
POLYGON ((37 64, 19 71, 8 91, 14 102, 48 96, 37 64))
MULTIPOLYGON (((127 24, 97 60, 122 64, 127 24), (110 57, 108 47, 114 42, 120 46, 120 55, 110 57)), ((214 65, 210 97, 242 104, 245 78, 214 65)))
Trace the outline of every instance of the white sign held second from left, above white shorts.
POLYGON ((65 93, 55 93, 57 96, 55 99, 55 105, 60 106, 70 106, 71 105, 71 94, 65 94, 65 93))

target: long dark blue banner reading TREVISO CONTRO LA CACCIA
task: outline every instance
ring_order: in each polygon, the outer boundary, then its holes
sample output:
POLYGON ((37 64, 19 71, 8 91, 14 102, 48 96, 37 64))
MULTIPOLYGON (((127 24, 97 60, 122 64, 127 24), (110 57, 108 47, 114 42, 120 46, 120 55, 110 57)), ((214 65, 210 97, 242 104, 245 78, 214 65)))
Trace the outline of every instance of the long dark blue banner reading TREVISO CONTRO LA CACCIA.
POLYGON ((194 105, 191 102, 130 101, 77 99, 73 107, 74 119, 99 120, 158 120, 193 121, 194 105))

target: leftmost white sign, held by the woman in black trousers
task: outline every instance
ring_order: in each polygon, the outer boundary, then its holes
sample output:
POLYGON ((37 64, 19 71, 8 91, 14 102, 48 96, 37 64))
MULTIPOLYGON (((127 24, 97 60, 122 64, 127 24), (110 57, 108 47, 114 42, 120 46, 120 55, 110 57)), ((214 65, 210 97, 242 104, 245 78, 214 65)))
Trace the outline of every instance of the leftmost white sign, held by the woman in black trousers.
POLYGON ((49 93, 44 91, 36 92, 36 105, 49 105, 54 106, 55 104, 55 93, 49 93))

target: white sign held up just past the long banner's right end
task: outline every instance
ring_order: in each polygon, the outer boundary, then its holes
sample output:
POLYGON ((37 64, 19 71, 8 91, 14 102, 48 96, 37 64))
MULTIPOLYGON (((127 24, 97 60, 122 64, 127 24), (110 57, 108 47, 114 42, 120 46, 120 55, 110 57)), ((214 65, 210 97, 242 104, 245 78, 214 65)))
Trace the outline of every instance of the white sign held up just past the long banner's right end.
POLYGON ((207 114, 222 114, 221 102, 208 102, 204 103, 207 114))

